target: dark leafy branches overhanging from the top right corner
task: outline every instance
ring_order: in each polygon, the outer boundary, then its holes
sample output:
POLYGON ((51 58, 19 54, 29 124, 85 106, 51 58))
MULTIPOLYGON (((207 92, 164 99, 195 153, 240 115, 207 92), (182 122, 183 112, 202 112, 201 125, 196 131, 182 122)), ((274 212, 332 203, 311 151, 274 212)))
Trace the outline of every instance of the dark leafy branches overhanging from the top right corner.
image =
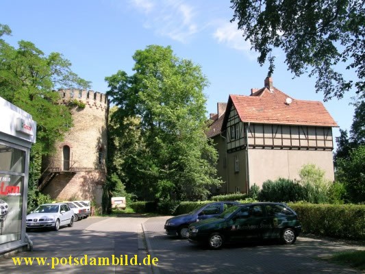
POLYGON ((231 0, 245 40, 260 53, 257 61, 275 68, 274 48, 286 53, 288 69, 317 75, 316 91, 325 100, 365 90, 365 5, 359 0, 231 0), (357 73, 345 79, 340 64, 357 73))

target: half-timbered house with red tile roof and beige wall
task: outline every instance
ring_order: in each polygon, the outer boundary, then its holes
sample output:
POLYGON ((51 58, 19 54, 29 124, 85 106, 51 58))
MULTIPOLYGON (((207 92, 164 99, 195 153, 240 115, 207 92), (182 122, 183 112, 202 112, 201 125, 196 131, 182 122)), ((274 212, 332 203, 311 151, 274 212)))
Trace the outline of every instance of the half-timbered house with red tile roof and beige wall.
POLYGON ((299 179, 304 164, 315 164, 333 180, 332 127, 323 103, 293 99, 266 78, 250 96, 230 95, 224 115, 207 132, 219 152, 223 186, 214 192, 248 192, 268 179, 299 179))

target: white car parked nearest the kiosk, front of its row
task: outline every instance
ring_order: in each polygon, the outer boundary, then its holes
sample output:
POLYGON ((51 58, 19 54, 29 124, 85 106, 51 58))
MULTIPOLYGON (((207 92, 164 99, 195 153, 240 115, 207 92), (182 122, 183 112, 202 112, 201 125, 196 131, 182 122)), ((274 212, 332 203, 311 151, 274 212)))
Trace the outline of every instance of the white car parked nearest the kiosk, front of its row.
POLYGON ((73 226, 73 211, 66 203, 45 203, 27 215, 27 229, 49 227, 55 230, 62 225, 73 226))

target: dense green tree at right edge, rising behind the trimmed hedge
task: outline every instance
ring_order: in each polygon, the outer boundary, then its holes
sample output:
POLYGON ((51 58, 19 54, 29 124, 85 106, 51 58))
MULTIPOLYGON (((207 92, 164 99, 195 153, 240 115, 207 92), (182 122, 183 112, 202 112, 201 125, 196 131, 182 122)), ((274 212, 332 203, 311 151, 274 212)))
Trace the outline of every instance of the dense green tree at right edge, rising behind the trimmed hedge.
POLYGON ((348 159, 340 158, 336 176, 349 195, 353 203, 365 202, 365 145, 353 149, 348 159))

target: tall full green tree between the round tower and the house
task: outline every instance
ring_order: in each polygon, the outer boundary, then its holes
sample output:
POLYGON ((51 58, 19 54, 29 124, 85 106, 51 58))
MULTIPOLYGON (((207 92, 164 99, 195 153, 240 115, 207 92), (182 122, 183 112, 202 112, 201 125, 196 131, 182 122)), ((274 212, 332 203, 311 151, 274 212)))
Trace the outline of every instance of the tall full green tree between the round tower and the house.
POLYGON ((118 152, 118 174, 127 190, 144 199, 204 198, 208 186, 219 183, 216 151, 204 133, 207 79, 171 47, 151 45, 133 58, 133 75, 118 71, 105 78, 118 105, 114 132, 119 129, 126 140, 118 142, 126 152, 118 152))

